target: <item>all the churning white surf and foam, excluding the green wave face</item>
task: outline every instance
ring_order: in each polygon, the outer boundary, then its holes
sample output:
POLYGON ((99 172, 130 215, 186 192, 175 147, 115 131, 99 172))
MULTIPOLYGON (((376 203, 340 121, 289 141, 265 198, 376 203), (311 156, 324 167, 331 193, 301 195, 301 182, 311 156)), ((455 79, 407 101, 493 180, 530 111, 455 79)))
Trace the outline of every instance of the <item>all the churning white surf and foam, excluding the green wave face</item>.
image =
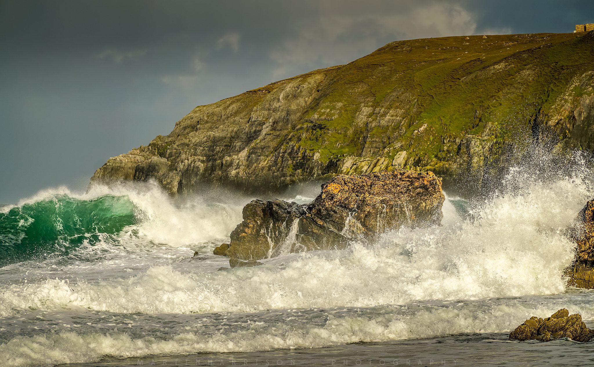
POLYGON ((567 293, 563 278, 573 245, 562 232, 592 197, 589 173, 510 180, 519 189, 473 207, 472 219, 447 200, 442 226, 221 271, 227 259, 211 251, 250 198, 174 203, 156 187, 61 189, 127 195, 140 224, 74 260, 1 269, 0 355, 53 365, 505 333, 561 307, 594 320, 594 295, 567 293))

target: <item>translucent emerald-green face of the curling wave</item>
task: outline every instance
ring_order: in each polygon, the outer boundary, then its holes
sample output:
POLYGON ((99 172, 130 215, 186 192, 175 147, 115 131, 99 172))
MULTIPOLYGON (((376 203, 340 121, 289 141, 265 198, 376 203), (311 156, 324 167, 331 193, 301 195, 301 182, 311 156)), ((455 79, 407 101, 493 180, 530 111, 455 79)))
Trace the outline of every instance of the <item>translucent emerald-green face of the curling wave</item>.
POLYGON ((67 255, 85 240, 117 234, 135 223, 127 196, 81 200, 54 195, 0 213, 0 267, 20 261, 67 255))

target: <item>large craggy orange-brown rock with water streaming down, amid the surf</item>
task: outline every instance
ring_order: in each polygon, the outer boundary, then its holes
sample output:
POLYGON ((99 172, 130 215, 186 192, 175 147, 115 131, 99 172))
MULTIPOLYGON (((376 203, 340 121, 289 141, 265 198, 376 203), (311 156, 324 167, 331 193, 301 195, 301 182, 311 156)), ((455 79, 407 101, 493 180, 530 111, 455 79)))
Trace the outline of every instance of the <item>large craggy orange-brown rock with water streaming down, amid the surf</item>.
POLYGON ((339 175, 322 185, 309 204, 254 200, 214 254, 260 260, 280 254, 345 248, 400 226, 440 224, 441 178, 431 172, 396 170, 339 175))

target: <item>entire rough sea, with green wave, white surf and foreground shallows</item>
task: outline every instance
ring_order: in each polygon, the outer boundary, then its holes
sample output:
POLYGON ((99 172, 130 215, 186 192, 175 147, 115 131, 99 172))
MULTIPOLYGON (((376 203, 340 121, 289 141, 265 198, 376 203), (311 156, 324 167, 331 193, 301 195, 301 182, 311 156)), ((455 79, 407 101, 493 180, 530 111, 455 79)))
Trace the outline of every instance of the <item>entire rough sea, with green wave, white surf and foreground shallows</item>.
POLYGON ((44 190, 0 210, 0 356, 5 366, 589 366, 594 344, 507 336, 560 308, 592 327, 594 292, 568 287, 563 270, 574 248, 564 229, 593 183, 583 167, 511 170, 491 196, 446 193, 441 226, 235 269, 212 251, 254 197, 172 199, 151 183, 44 190))

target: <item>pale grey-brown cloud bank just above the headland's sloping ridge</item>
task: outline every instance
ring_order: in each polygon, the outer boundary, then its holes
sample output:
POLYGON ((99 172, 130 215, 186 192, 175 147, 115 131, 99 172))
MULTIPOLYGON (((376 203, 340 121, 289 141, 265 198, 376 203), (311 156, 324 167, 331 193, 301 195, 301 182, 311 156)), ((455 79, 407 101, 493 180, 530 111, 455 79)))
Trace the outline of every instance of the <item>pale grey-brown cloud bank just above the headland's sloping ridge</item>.
POLYGON ((295 36, 271 50, 271 59, 279 64, 273 76, 289 76, 290 65, 345 63, 383 46, 386 40, 473 34, 476 30, 476 15, 461 5, 444 1, 405 5, 395 12, 336 13, 322 6, 317 17, 296 26, 295 36))

